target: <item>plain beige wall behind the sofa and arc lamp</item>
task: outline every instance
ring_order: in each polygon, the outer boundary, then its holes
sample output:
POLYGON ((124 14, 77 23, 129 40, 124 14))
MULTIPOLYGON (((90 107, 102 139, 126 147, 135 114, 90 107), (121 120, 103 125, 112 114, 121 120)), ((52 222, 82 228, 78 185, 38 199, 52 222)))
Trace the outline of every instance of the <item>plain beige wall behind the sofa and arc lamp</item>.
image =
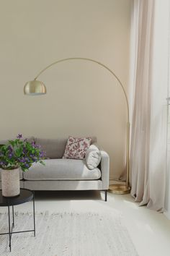
POLYGON ((97 135, 111 158, 110 177, 125 167, 125 98, 106 69, 84 61, 41 75, 48 94, 23 94, 27 80, 51 62, 96 59, 128 90, 131 0, 0 1, 0 139, 97 135))

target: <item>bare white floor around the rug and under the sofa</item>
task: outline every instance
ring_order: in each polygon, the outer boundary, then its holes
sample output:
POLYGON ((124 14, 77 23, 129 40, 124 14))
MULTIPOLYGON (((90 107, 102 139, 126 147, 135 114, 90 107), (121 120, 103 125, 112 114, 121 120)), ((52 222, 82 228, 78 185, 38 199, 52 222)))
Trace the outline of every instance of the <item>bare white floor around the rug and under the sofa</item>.
MULTIPOLYGON (((54 212, 116 209, 124 217, 138 255, 170 255, 170 221, 164 214, 148 210, 146 207, 138 207, 130 195, 108 194, 107 202, 102 199, 103 192, 36 192, 35 210, 54 212)), ((1 212, 2 210, 6 208, 0 208, 1 212)), ((15 210, 31 211, 32 202, 17 205, 15 210)))

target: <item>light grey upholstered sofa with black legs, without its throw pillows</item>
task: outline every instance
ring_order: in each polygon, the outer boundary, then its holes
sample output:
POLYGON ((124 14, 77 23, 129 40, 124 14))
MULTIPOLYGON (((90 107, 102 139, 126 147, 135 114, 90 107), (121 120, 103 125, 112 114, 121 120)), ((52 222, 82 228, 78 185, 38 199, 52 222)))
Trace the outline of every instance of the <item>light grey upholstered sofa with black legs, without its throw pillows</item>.
MULTIPOLYGON (((109 188, 109 155, 101 150, 102 160, 97 168, 89 170, 86 161, 63 159, 67 139, 35 138, 37 145, 45 150, 45 166, 35 163, 29 171, 20 174, 22 188, 32 190, 101 190, 109 188)), ((93 137, 92 142, 97 142, 93 137)), ((1 182, 0 182, 1 187, 1 182)))

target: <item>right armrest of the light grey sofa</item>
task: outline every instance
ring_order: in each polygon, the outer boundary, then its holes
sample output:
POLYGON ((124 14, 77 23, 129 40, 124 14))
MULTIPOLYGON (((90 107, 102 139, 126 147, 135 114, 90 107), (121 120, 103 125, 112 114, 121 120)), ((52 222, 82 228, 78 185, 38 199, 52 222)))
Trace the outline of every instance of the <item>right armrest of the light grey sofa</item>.
POLYGON ((102 189, 109 189, 109 155, 100 150, 102 154, 101 159, 101 172, 102 172, 102 189))

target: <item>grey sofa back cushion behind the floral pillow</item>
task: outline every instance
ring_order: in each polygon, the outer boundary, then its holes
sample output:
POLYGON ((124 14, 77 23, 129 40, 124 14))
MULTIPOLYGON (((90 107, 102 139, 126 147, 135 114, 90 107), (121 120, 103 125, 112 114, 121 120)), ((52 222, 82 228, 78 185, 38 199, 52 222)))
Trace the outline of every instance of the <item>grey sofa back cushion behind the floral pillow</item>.
MULTIPOLYGON (((58 159, 63 158, 63 154, 67 144, 66 139, 43 139, 35 138, 35 143, 41 146, 41 149, 45 151, 46 158, 58 159)), ((97 137, 92 137, 91 143, 97 142, 97 137)))

